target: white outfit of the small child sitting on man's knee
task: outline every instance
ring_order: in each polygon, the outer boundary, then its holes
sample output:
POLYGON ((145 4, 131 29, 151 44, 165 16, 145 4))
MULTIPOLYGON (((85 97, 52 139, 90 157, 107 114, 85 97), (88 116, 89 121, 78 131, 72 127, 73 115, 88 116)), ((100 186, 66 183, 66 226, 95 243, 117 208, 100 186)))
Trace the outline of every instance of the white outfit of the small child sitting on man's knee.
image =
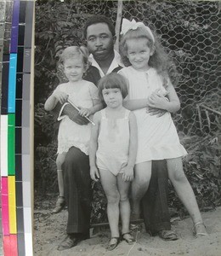
MULTIPOLYGON (((93 100, 99 99, 98 88, 86 80, 77 83, 77 86, 70 83, 59 84, 55 90, 64 91, 77 107, 92 108, 93 100)), ((66 115, 59 119, 61 121, 58 134, 58 154, 68 152, 72 146, 81 149, 84 154, 88 154, 91 124, 77 125, 66 115)))

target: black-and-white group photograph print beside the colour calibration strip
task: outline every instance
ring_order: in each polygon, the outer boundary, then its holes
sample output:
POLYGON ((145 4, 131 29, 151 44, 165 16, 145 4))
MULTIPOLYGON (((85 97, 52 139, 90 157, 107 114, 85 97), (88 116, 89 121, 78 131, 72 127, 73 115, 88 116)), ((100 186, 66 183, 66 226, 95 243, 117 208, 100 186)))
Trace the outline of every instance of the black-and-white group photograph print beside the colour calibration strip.
POLYGON ((221 254, 221 2, 37 0, 34 254, 221 254))

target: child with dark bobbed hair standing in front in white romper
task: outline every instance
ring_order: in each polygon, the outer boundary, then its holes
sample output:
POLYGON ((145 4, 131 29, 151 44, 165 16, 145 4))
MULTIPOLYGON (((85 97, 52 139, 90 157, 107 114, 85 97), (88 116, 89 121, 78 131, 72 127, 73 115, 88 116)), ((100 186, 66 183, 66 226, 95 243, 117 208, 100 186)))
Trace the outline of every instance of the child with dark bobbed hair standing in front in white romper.
POLYGON ((106 108, 94 114, 90 143, 90 174, 94 181, 100 177, 107 197, 107 216, 113 250, 120 242, 119 215, 122 219, 122 240, 133 243, 129 233, 130 204, 128 189, 133 180, 137 154, 137 124, 133 112, 122 107, 127 96, 125 79, 117 73, 107 74, 99 81, 99 95, 106 108))

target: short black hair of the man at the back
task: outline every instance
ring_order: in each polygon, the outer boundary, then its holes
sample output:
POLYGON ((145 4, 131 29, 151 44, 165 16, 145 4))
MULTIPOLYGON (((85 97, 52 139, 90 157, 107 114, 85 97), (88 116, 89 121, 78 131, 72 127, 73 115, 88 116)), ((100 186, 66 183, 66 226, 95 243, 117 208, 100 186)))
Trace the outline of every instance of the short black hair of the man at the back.
POLYGON ((98 24, 98 23, 105 23, 109 27, 109 30, 111 31, 112 36, 113 37, 115 36, 115 26, 113 25, 111 20, 109 20, 104 15, 93 15, 93 16, 88 18, 88 20, 86 21, 85 26, 83 28, 84 38, 87 38, 88 26, 98 24))

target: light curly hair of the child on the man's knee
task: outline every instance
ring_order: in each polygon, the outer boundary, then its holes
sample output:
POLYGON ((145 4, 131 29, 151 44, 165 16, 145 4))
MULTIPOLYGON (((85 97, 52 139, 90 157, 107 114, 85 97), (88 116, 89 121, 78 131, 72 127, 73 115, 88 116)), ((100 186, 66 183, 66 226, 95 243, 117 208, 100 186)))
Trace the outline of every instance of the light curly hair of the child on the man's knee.
POLYGON ((79 58, 79 56, 82 56, 83 65, 85 67, 85 70, 87 70, 89 67, 89 61, 88 61, 89 51, 88 51, 88 48, 85 46, 80 46, 80 47, 69 46, 65 48, 59 57, 59 66, 63 67, 64 62, 66 60, 79 58))

